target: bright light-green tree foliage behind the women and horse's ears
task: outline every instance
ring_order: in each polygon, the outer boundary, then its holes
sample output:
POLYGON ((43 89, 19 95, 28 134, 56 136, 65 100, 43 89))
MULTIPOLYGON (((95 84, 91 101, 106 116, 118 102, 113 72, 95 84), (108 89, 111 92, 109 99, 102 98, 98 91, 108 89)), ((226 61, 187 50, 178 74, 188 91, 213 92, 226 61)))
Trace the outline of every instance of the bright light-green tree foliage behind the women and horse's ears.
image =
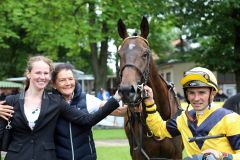
MULTIPOLYGON (((130 28, 138 29, 142 16, 149 17, 151 48, 155 52, 170 49, 171 36, 164 32, 168 33, 171 23, 159 16, 159 7, 165 6, 162 2, 8 0, 0 3, 3 17, 0 20, 0 47, 6 48, 4 54, 17 51, 9 55, 14 57, 11 63, 21 64, 20 68, 26 57, 41 53, 93 73, 96 88, 106 87, 107 60, 111 54, 108 44, 114 41, 118 47, 122 41, 116 26, 119 18, 130 28)), ((19 67, 12 71, 6 67, 2 75, 18 75, 22 72, 19 67)))

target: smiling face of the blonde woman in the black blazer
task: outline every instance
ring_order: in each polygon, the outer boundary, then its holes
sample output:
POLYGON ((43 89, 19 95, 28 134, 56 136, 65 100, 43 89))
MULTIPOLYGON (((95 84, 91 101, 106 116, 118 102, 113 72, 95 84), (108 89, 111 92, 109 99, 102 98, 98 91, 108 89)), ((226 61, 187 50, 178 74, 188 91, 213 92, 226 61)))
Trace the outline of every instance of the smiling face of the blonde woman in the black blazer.
POLYGON ((32 69, 27 72, 27 78, 30 80, 29 88, 43 90, 50 81, 50 74, 50 66, 46 62, 33 62, 32 69))

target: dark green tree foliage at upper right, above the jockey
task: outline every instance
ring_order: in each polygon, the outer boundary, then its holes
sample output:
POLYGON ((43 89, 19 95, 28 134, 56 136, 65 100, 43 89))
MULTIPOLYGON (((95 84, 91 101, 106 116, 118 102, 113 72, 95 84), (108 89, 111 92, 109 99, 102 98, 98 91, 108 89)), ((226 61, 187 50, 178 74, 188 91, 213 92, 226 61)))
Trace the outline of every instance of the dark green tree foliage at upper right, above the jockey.
POLYGON ((184 54, 220 72, 234 72, 237 92, 240 92, 240 1, 168 1, 169 14, 188 40, 201 46, 184 54))

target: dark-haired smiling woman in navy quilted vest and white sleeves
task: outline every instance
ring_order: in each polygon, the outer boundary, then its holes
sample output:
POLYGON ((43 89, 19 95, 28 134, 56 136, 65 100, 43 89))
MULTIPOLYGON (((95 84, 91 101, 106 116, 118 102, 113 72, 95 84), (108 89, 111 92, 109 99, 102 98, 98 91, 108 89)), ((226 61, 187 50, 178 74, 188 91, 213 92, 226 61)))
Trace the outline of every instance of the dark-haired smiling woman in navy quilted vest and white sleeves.
MULTIPOLYGON (((61 95, 71 107, 86 113, 99 110, 104 101, 82 92, 80 84, 75 80, 73 66, 63 63, 55 66, 52 73, 53 93, 61 95)), ((115 110, 115 115, 124 112, 115 110)), ((55 130, 56 153, 64 160, 96 160, 96 149, 91 127, 79 127, 63 117, 59 117, 55 130)))

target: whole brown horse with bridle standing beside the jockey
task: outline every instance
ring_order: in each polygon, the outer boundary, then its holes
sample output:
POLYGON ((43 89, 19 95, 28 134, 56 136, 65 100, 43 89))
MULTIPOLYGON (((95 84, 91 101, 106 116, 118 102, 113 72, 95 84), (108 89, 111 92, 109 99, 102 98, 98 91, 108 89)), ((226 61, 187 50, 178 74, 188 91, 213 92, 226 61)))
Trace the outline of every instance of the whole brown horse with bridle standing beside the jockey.
POLYGON ((140 29, 140 36, 129 36, 123 21, 118 21, 118 33, 123 39, 119 49, 119 93, 123 96, 123 102, 128 104, 125 131, 130 153, 133 160, 181 159, 183 145, 180 136, 159 139, 146 125, 143 85, 152 88, 157 111, 164 120, 171 118, 179 105, 173 87, 157 72, 147 41, 149 25, 145 17, 140 29))

